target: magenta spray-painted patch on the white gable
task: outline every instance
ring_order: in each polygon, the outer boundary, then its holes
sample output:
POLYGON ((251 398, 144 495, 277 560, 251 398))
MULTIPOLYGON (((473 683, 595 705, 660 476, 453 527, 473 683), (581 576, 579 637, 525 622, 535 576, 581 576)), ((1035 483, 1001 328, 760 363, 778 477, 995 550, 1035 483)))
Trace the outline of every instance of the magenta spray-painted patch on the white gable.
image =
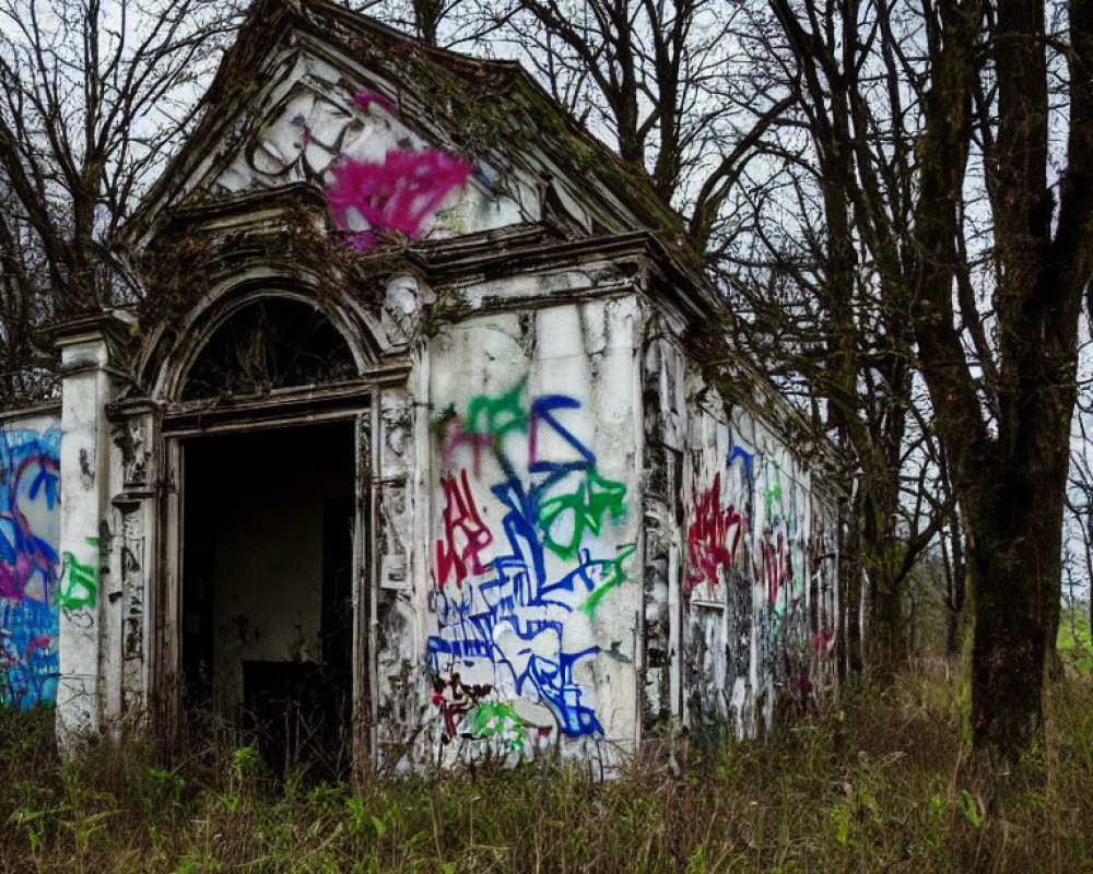
POLYGON ((353 248, 364 251, 391 234, 421 236, 425 218, 451 191, 467 184, 473 169, 461 158, 435 150, 392 149, 383 164, 344 158, 332 169, 334 181, 327 202, 338 227, 353 229, 351 211, 368 224, 366 231, 350 237, 353 248))

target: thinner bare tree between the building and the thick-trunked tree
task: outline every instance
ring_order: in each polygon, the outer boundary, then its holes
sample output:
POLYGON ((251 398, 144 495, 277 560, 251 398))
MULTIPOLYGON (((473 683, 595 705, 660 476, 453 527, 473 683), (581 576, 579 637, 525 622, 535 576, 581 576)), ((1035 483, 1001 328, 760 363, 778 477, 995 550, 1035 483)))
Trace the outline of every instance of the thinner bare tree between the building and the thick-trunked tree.
POLYGON ((781 111, 741 141, 751 160, 739 165, 706 225, 706 252, 737 315, 738 346, 798 392, 847 451, 854 491, 843 576, 848 600, 865 602, 870 626, 867 640, 848 627, 850 663, 886 673, 907 656, 907 575, 951 517, 953 500, 937 451, 924 444, 928 428, 914 422, 922 387, 916 394, 909 306, 898 293, 913 147, 883 126, 914 101, 881 87, 883 67, 861 64, 870 49, 860 40, 869 34, 859 34, 853 10, 843 22, 839 9, 802 9, 816 24, 808 33, 788 4, 749 4, 734 22, 740 66, 781 111), (888 212, 863 226, 854 142, 867 119, 854 95, 873 91, 880 99, 870 97, 877 115, 868 119, 869 147, 884 172, 868 167, 868 185, 886 199, 888 212), (924 462, 929 471, 908 468, 924 462), (944 494, 928 499, 915 493, 919 487, 944 494))

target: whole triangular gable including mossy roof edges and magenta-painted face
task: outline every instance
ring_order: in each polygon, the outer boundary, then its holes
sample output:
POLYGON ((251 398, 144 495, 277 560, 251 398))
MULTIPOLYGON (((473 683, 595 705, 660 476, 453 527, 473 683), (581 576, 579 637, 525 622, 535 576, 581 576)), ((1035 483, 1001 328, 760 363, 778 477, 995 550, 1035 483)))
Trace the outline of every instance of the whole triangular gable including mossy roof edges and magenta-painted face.
POLYGON ((301 184, 325 197, 354 163, 362 209, 331 217, 365 239, 377 221, 413 238, 525 223, 678 231, 640 175, 517 64, 422 46, 322 0, 259 0, 204 104, 130 223, 138 245, 196 206, 301 184))

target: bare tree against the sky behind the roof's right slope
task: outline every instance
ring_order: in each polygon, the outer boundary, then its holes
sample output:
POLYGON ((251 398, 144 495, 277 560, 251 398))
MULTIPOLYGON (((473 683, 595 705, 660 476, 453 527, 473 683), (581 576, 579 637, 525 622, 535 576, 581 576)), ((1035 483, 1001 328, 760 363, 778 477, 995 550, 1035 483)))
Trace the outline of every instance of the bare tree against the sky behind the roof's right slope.
POLYGON ((365 0, 425 39, 520 60, 690 218, 704 253, 729 191, 786 108, 734 62, 719 0, 365 0))

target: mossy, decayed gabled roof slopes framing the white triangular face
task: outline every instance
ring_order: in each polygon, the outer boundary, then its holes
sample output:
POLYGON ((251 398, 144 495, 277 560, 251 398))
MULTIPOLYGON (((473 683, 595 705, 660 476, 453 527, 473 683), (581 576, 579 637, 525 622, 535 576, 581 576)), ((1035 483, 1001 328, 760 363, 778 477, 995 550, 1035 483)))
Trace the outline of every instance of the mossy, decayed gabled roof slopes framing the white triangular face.
MULTIPOLYGON (((199 187, 210 167, 226 166, 267 120, 256 117, 255 96, 278 58, 294 49, 324 54, 346 76, 363 69, 393 85, 393 93, 377 91, 472 162, 540 176, 557 168, 579 186, 592 233, 645 227, 683 249, 682 220, 644 168, 624 164, 517 62, 433 48, 325 0, 257 0, 202 98, 200 121, 127 224, 127 239, 146 243, 174 208, 204 196, 199 187)), ((694 256, 680 253, 696 265, 694 256)))

